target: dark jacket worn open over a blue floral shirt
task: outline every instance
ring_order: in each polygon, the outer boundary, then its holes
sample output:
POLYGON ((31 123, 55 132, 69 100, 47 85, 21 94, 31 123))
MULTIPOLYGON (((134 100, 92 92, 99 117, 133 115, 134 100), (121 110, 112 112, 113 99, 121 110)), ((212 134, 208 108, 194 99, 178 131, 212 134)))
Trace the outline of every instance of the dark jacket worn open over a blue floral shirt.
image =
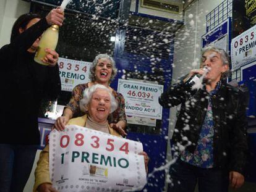
MULTIPOLYGON (((169 86, 159 98, 163 107, 173 107, 181 104, 174 130, 174 144, 189 145, 186 150, 194 152, 205 119, 208 106, 208 96, 205 89, 191 91, 186 83, 169 86), (182 140, 186 136, 188 141, 182 140)), ((247 102, 245 94, 222 82, 220 89, 211 96, 214 138, 213 158, 216 167, 228 167, 229 171, 243 173, 247 156, 247 117, 245 115, 247 102)))

